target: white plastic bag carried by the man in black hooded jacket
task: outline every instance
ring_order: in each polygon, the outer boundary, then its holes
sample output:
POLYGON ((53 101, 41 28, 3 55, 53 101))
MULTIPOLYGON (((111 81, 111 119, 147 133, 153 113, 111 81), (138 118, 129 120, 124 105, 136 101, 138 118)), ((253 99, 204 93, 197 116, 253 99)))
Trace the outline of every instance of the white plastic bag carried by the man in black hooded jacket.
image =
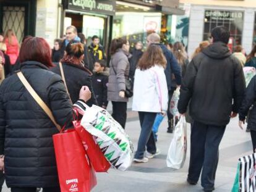
POLYGON ((187 123, 182 116, 174 128, 174 136, 171 141, 166 158, 167 167, 181 169, 184 165, 187 153, 187 123))

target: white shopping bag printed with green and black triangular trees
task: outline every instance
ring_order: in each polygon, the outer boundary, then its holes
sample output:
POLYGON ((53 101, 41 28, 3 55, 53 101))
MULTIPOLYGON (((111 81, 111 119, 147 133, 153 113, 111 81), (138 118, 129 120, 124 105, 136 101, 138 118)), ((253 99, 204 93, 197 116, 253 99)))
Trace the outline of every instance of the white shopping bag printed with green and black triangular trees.
POLYGON ((96 136, 101 151, 113 168, 126 170, 130 167, 133 144, 121 125, 105 109, 94 105, 87 107, 81 125, 96 136))

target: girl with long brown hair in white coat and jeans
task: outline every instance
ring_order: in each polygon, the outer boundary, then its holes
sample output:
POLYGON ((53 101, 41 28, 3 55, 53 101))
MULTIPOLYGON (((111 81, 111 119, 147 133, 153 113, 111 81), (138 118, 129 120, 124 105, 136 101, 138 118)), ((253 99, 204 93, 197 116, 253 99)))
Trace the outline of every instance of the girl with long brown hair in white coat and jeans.
POLYGON ((135 162, 148 162, 148 159, 160 153, 156 149, 152 126, 156 114, 165 113, 168 108, 165 67, 166 59, 161 48, 156 44, 151 44, 144 52, 135 71, 132 109, 139 112, 142 128, 134 157, 135 162))

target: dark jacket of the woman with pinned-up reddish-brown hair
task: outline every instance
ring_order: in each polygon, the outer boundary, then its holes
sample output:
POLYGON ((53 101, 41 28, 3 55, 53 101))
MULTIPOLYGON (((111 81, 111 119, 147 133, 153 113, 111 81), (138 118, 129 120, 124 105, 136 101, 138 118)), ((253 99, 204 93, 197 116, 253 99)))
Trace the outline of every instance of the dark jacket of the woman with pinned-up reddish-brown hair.
MULTIPOLYGON (((66 78, 67 89, 69 90, 70 98, 74 103, 79 99, 79 93, 82 86, 88 86, 92 93, 92 98, 87 101, 88 106, 97 104, 93 88, 92 88, 92 73, 90 70, 85 67, 75 65, 75 64, 66 64, 62 63, 64 76, 66 78)), ((51 69, 52 72, 61 75, 61 70, 59 69, 59 64, 56 64, 56 67, 51 69)))

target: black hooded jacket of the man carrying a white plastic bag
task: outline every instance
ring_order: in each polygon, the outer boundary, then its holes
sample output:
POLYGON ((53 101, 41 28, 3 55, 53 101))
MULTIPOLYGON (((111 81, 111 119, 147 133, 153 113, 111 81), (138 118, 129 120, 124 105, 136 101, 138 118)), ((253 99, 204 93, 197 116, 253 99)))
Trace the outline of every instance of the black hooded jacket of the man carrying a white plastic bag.
POLYGON ((178 109, 184 114, 191 99, 192 119, 207 125, 227 125, 231 112, 238 112, 244 91, 241 64, 226 44, 213 43, 187 66, 178 109))

